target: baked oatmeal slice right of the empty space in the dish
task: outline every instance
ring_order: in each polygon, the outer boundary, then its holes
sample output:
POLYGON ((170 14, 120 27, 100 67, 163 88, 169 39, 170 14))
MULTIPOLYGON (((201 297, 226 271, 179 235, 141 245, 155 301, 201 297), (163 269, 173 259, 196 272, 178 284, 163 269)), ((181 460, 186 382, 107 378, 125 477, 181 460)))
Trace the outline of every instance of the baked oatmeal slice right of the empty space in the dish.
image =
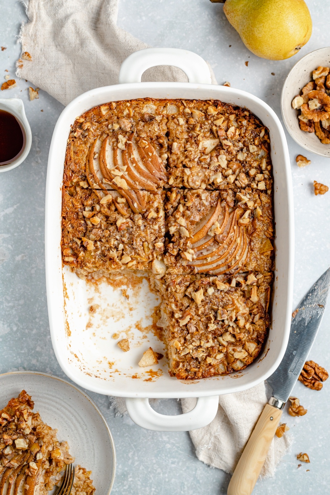
POLYGON ((228 283, 202 275, 151 276, 163 299, 170 374, 189 380, 229 374, 260 353, 269 327, 272 274, 240 273, 228 283))

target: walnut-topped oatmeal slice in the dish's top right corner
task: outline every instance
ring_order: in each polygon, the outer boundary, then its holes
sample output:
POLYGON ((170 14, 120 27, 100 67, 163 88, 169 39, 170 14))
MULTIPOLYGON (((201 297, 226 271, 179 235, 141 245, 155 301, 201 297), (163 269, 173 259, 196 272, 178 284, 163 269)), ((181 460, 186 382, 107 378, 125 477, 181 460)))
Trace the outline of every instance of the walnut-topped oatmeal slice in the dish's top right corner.
POLYGON ((169 185, 271 189, 269 131, 246 108, 218 100, 177 100, 168 117, 169 185))

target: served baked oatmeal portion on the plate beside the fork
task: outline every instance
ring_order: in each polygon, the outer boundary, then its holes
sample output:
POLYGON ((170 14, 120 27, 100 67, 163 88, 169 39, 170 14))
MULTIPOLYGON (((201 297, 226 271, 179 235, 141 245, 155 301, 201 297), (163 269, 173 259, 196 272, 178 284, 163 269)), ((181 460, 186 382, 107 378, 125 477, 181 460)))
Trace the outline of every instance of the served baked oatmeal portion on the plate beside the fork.
MULTIPOLYGON (((59 443, 56 430, 44 423, 25 390, 0 411, 0 493, 47 495, 59 485, 67 464, 74 462, 67 442, 59 443)), ((93 495, 91 471, 78 466, 72 493, 93 495), (81 483, 81 470, 87 474, 81 483), (88 490, 85 490, 88 487, 88 490)))

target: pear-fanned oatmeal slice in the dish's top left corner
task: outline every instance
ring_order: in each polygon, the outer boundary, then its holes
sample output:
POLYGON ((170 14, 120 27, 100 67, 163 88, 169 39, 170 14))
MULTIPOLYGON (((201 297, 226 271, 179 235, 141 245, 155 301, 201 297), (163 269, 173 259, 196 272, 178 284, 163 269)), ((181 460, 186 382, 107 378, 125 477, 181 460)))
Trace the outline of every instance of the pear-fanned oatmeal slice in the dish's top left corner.
POLYGON ((164 100, 96 106, 76 119, 68 140, 64 186, 156 191, 167 181, 164 100))

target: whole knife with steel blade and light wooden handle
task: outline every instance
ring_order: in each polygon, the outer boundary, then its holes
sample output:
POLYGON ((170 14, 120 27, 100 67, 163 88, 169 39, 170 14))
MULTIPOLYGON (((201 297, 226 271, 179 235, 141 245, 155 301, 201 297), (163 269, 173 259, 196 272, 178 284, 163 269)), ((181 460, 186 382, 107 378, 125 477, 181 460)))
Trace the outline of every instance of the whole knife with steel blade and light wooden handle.
POLYGON ((280 366, 267 382, 273 396, 265 405, 237 463, 227 495, 250 495, 265 462, 269 447, 279 426, 283 407, 305 364, 315 341, 330 286, 330 268, 309 290, 292 313, 287 348, 280 366))

